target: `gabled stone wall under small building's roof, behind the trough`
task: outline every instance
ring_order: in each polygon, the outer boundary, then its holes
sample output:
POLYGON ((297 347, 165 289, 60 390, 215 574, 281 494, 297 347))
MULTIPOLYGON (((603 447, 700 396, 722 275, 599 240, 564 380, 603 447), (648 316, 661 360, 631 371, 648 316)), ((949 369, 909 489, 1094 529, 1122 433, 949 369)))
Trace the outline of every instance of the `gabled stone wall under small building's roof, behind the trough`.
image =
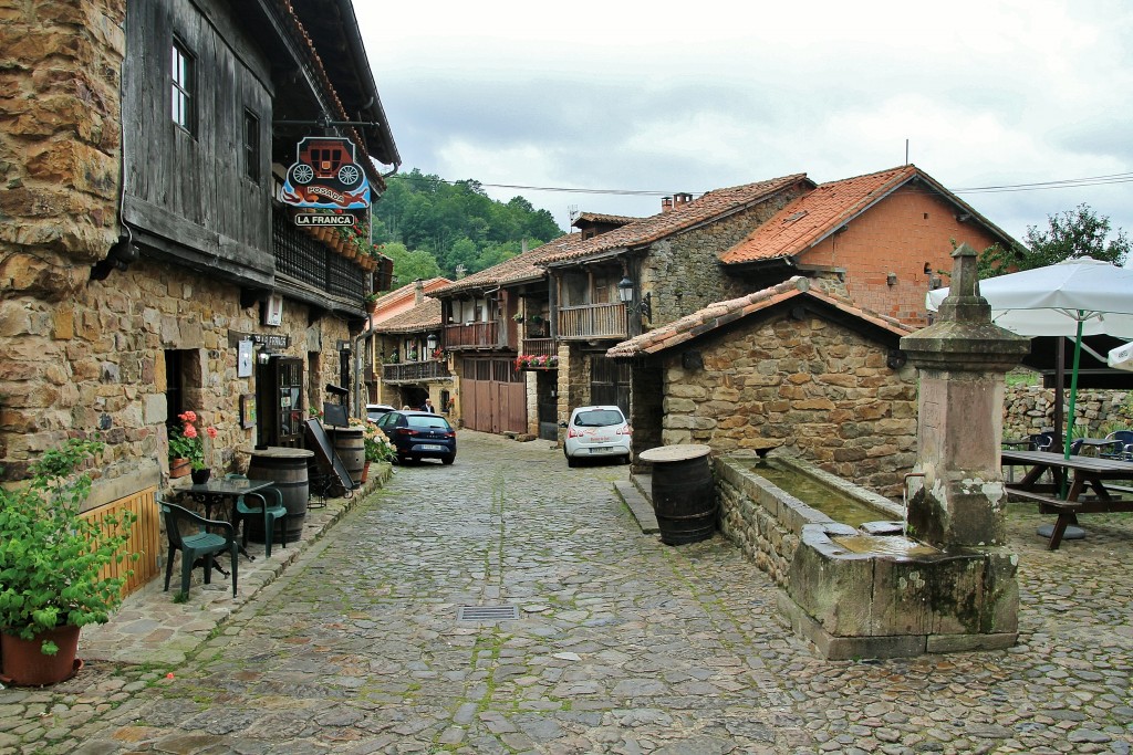
MULTIPOLYGON (((675 351, 675 350, 674 350, 675 351)), ((716 454, 780 440, 794 455, 900 498, 917 454, 917 376, 849 328, 782 317, 706 340, 702 369, 664 359, 664 444, 716 454)))

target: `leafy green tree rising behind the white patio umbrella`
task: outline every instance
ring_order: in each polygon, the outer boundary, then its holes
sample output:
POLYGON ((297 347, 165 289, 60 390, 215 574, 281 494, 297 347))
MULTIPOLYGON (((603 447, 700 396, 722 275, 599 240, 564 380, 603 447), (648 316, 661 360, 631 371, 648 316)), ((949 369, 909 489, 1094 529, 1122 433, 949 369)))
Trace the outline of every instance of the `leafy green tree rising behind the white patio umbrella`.
POLYGON ((1013 250, 998 244, 985 249, 980 255, 980 277, 1046 267, 1066 259, 1092 258, 1123 265, 1130 252, 1125 231, 1114 231, 1108 217, 1085 204, 1047 215, 1046 229, 1028 225, 1025 241, 1026 247, 1013 250))

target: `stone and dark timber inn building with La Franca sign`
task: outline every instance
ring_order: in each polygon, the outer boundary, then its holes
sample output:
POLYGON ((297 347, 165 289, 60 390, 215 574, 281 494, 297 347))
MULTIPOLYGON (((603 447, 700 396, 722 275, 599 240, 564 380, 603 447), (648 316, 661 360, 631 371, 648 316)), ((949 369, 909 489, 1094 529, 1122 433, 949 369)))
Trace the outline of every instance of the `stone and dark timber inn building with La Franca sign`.
POLYGON ((377 165, 400 162, 348 10, 5 3, 3 480, 97 435, 88 505, 135 507, 169 484, 179 412, 218 430, 206 461, 227 471, 301 445, 323 386, 353 387, 363 298, 389 260, 364 235, 303 231, 281 201, 312 134, 350 139, 370 197, 377 165))

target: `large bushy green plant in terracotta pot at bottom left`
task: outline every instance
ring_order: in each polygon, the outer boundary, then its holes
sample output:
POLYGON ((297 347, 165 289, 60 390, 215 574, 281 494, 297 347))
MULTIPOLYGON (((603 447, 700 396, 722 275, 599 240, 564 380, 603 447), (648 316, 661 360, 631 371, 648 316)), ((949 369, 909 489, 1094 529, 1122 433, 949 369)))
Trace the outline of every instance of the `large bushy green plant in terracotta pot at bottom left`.
POLYGON ((123 547, 130 512, 82 516, 91 478, 76 470, 103 444, 71 438, 32 465, 32 481, 0 488, 0 659, 9 684, 62 681, 82 668, 79 628, 105 624, 131 574, 108 577, 110 564, 130 558, 123 547))

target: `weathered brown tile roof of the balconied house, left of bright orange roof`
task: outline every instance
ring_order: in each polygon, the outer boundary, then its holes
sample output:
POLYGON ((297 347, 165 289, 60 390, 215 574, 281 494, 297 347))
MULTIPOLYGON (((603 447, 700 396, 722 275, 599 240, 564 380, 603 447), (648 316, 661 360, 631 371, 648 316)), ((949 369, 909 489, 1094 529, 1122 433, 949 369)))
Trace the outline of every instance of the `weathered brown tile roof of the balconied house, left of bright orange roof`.
POLYGON ((815 186, 806 173, 794 173, 767 181, 715 189, 668 212, 636 220, 586 241, 577 239, 557 254, 544 257, 540 264, 582 259, 612 249, 646 246, 701 223, 726 217, 800 183, 808 188, 815 186))

